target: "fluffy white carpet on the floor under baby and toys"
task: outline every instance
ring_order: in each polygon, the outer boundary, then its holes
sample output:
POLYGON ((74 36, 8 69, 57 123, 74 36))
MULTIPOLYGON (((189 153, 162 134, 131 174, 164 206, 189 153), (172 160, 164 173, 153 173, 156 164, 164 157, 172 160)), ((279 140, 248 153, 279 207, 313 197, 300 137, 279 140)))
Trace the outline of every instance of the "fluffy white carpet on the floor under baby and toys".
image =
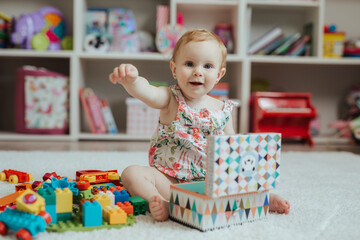
MULTIPOLYGON (((0 170, 27 171, 35 180, 45 172, 75 178, 76 170, 121 172, 131 164, 147 165, 147 153, 0 152, 0 170)), ((359 155, 283 152, 280 176, 273 192, 289 200, 289 215, 270 214, 265 220, 205 233, 173 221, 158 223, 147 215, 119 230, 41 233, 36 239, 360 239, 359 155)), ((0 182, 0 197, 13 191, 14 185, 0 182)))

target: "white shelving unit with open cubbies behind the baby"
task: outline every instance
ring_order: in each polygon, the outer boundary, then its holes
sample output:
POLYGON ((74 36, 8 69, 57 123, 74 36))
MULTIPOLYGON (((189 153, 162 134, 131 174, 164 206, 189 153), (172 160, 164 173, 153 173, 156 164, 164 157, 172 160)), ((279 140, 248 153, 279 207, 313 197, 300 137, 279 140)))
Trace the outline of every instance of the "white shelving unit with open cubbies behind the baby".
MULTIPOLYGON (((176 22, 178 12, 184 15, 187 29, 213 30, 217 23, 233 26, 235 50, 227 58, 227 73, 223 81, 230 84, 230 97, 241 102, 239 129, 249 131, 249 97, 251 81, 262 78, 269 81, 271 90, 307 91, 313 93, 313 104, 322 121, 319 142, 334 130, 327 125, 338 119, 339 104, 347 89, 359 83, 360 59, 322 58, 323 25, 336 24, 350 37, 360 37, 355 23, 360 21, 355 9, 357 0, 27 0, 1 1, 1 11, 18 17, 43 6, 60 9, 68 22, 68 34, 74 37, 74 50, 38 52, 19 49, 0 49, 0 140, 148 140, 149 136, 131 136, 125 133, 126 105, 129 95, 121 86, 108 81, 112 69, 121 62, 138 66, 140 74, 154 81, 175 83, 169 69, 169 55, 160 53, 124 54, 89 53, 83 50, 85 14, 88 8, 123 7, 132 9, 138 30, 155 33, 156 6, 170 7, 170 23, 176 22), (251 12, 251 18, 248 14, 251 12), (286 35, 301 31, 304 24, 314 26, 314 56, 248 56, 248 43, 275 25, 286 35), (67 135, 28 135, 15 133, 16 69, 22 65, 45 67, 70 77, 70 131, 67 135), (106 98, 115 115, 119 134, 91 134, 79 103, 79 87, 91 87, 106 98)), ((325 139, 325 140, 324 140, 325 139)), ((332 139, 333 141, 333 139, 332 139)))

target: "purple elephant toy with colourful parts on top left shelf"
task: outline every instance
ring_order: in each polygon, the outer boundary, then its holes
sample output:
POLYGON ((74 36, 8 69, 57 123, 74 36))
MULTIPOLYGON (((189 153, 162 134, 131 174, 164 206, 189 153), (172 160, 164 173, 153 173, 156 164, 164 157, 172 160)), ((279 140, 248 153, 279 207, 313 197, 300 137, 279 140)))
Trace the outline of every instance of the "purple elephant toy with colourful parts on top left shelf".
POLYGON ((54 7, 22 14, 15 22, 11 40, 24 49, 60 50, 66 34, 64 15, 54 7))

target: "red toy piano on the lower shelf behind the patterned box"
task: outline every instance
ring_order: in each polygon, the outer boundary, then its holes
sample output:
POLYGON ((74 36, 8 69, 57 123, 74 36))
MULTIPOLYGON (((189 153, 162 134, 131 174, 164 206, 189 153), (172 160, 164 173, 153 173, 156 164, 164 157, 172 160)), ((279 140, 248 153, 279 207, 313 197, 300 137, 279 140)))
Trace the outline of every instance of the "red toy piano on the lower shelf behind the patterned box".
POLYGON ((312 146, 310 121, 316 117, 311 93, 254 92, 251 131, 279 132, 283 138, 305 139, 312 146))

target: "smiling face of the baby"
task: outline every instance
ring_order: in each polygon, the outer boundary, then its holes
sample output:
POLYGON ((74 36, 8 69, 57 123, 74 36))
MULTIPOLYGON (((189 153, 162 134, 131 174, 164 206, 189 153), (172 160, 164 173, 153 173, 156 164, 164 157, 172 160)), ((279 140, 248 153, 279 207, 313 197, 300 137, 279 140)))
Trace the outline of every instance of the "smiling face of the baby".
POLYGON ((181 46, 170 66, 185 97, 199 99, 210 92, 224 75, 221 62, 219 44, 212 40, 181 46))

